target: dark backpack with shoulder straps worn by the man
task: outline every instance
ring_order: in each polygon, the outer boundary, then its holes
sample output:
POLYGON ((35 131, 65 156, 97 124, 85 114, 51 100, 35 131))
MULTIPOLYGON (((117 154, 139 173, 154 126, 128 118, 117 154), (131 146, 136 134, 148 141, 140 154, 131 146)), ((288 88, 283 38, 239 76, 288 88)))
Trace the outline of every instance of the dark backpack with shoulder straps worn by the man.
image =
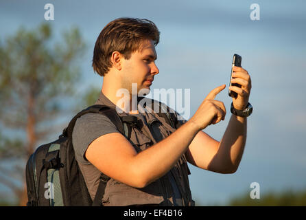
MULTIPOLYGON (((161 102, 159 106, 161 107, 161 102)), ((139 119, 136 116, 119 116, 115 109, 106 105, 95 104, 80 111, 62 131, 58 140, 39 146, 28 159, 25 168, 27 206, 102 206, 102 197, 110 178, 101 173, 99 186, 92 200, 75 160, 72 144, 75 122, 86 113, 106 115, 128 139, 131 127, 139 128, 139 119)), ((174 113, 169 113, 169 107, 166 112, 158 111, 157 114, 174 128, 180 125, 174 113)))

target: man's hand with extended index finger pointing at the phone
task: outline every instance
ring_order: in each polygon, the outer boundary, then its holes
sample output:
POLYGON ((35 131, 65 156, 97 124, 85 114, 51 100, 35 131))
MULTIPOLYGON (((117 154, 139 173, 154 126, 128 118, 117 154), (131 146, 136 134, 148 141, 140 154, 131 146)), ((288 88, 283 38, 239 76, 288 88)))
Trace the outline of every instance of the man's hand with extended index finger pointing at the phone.
POLYGON ((202 104, 200 104, 196 113, 189 120, 198 126, 199 131, 205 129, 210 124, 217 124, 221 120, 224 120, 226 115, 224 103, 215 100, 215 96, 225 87, 225 85, 221 85, 211 90, 202 104))

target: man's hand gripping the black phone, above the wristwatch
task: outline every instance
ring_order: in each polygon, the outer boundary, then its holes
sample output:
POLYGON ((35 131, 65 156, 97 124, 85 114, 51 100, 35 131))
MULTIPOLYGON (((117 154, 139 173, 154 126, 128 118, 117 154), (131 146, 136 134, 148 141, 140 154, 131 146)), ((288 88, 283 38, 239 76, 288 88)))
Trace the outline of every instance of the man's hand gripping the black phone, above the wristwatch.
POLYGON ((231 83, 232 85, 233 83, 241 85, 241 88, 235 86, 228 88, 231 91, 235 91, 237 93, 237 98, 233 98, 234 108, 239 110, 246 109, 248 98, 250 97, 250 89, 252 88, 250 75, 246 69, 234 66, 231 83))

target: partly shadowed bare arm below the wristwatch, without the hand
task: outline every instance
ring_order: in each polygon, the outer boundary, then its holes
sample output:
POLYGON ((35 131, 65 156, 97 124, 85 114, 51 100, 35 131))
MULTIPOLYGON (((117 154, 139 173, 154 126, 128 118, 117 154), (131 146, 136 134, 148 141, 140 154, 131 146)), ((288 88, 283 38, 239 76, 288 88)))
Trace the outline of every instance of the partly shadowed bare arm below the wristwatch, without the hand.
POLYGON ((198 132, 187 150, 187 161, 216 173, 235 173, 245 144, 246 118, 232 115, 220 142, 204 131, 198 132))

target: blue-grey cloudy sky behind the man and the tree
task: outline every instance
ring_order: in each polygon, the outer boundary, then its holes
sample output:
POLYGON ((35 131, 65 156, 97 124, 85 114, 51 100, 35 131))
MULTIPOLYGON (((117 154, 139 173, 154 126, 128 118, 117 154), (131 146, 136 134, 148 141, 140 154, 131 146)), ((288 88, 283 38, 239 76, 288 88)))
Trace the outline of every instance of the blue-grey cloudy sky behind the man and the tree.
POLYGON ((190 89, 191 117, 209 91, 226 84, 216 97, 226 106, 226 118, 204 129, 216 140, 231 116, 227 89, 233 54, 241 55, 252 79, 249 102, 254 109, 239 168, 224 175, 189 165, 193 199, 209 206, 249 194, 252 182, 259 183, 261 197, 271 190, 306 188, 305 8, 302 0, 0 1, 0 39, 42 22, 51 23, 55 39, 63 30, 78 27, 87 45, 80 63, 82 93, 102 86, 91 60, 104 26, 119 17, 149 19, 161 32, 156 46, 160 72, 152 91, 190 89), (44 19, 47 3, 54 5, 53 21, 44 19), (259 5, 259 20, 250 18, 253 3, 259 5))

